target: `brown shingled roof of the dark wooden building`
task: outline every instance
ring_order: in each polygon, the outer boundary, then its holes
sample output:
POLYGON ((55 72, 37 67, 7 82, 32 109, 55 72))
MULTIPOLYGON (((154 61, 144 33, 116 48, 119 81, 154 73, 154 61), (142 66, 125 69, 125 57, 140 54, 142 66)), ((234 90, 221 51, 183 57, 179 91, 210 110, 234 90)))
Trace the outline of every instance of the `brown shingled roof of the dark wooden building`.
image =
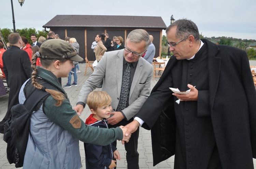
POLYGON ((110 15, 56 15, 43 27, 126 27, 166 29, 161 17, 110 15))

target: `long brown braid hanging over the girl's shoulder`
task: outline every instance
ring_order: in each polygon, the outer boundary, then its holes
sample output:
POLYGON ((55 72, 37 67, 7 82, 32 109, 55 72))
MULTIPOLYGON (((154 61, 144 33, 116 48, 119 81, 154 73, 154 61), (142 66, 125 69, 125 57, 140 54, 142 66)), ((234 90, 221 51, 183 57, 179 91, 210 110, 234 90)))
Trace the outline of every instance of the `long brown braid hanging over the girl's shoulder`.
POLYGON ((32 72, 32 84, 35 88, 39 89, 39 90, 44 90, 46 91, 47 93, 51 94, 52 97, 57 100, 57 103, 55 104, 55 106, 60 106, 62 104, 62 101, 65 100, 65 95, 59 91, 56 91, 56 90, 52 90, 52 89, 46 89, 44 88, 41 84, 39 84, 37 82, 37 55, 34 54, 33 57, 32 57, 32 64, 31 64, 31 67, 33 69, 33 72, 32 72))

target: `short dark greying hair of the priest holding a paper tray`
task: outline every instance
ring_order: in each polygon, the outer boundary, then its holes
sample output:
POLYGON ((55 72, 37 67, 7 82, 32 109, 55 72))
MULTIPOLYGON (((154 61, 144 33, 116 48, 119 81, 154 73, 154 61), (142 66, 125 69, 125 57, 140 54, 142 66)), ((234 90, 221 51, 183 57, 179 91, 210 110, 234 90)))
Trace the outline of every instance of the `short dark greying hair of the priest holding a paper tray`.
POLYGON ((176 29, 176 38, 183 39, 189 35, 193 35, 196 42, 200 41, 200 34, 197 28, 197 25, 188 19, 179 19, 170 24, 166 29, 166 34, 174 26, 177 26, 176 29))

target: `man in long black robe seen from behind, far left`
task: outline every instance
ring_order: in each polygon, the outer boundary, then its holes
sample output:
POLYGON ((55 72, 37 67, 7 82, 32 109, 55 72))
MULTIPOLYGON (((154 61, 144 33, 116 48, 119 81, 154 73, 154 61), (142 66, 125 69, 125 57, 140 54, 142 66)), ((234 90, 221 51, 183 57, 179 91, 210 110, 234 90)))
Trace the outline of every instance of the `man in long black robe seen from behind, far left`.
POLYGON ((31 76, 32 68, 28 53, 21 50, 22 38, 18 33, 11 33, 8 41, 12 47, 3 53, 3 72, 10 88, 8 110, 0 122, 0 133, 4 132, 4 123, 11 115, 11 108, 19 104, 19 90, 31 76))

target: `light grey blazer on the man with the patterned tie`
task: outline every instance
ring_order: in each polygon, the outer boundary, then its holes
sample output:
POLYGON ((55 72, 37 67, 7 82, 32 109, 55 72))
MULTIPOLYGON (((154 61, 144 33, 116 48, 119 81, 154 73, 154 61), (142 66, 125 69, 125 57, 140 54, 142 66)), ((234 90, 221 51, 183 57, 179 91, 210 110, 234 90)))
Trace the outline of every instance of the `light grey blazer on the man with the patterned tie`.
MULTIPOLYGON (((102 91, 112 98, 113 111, 116 110, 123 78, 124 50, 105 52, 93 74, 84 83, 77 102, 86 104, 87 96, 103 81, 102 91)), ((153 72, 152 64, 140 58, 131 84, 129 106, 123 110, 127 120, 135 116, 150 95, 150 84, 153 72)))

